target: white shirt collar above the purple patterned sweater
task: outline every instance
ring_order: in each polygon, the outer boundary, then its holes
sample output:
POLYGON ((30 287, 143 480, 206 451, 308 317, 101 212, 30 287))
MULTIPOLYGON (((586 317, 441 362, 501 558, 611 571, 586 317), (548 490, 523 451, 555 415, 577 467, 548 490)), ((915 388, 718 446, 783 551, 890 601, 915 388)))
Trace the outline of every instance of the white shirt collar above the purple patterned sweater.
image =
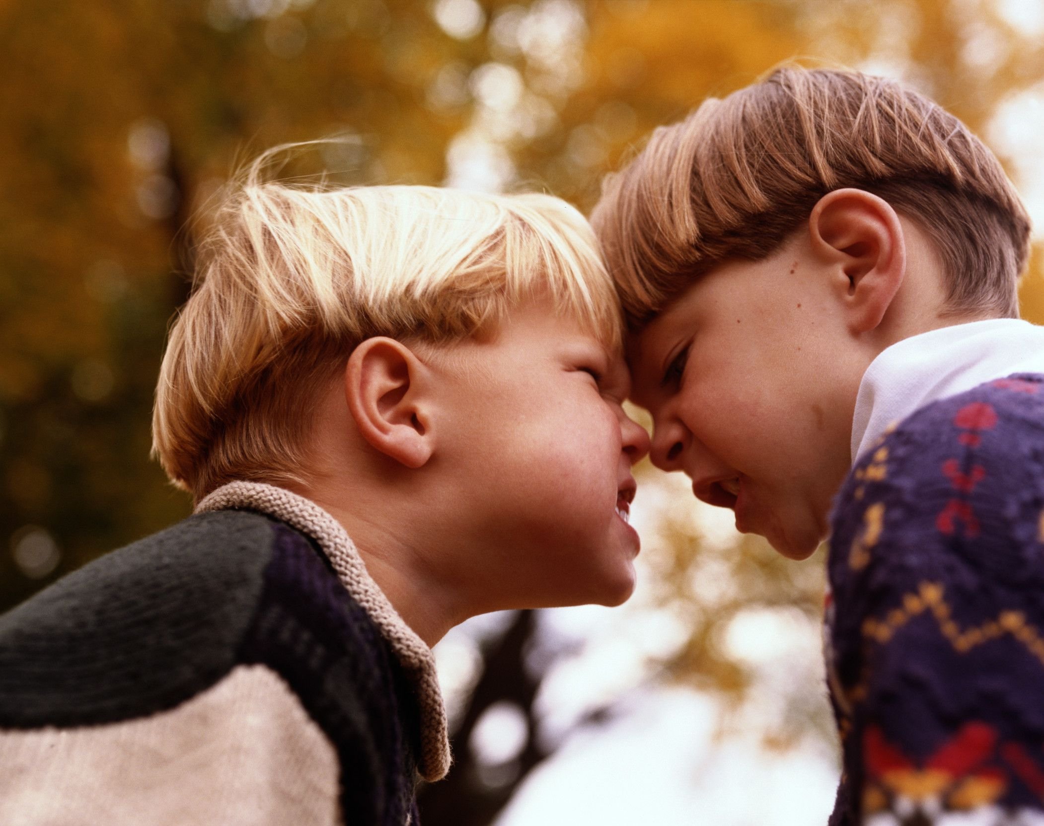
POLYGON ((859 384, 852 462, 893 422, 924 405, 1013 373, 1044 373, 1044 327, 1018 318, 957 324, 904 338, 875 358, 859 384))

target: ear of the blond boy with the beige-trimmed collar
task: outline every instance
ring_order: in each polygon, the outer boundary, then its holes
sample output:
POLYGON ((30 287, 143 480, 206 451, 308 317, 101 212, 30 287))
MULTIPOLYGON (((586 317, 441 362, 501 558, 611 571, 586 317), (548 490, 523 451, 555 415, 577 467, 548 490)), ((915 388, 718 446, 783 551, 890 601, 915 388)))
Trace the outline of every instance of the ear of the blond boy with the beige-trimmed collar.
POLYGON ((352 351, 345 379, 348 408, 362 438, 407 468, 422 467, 434 449, 424 362, 401 341, 377 336, 352 351))

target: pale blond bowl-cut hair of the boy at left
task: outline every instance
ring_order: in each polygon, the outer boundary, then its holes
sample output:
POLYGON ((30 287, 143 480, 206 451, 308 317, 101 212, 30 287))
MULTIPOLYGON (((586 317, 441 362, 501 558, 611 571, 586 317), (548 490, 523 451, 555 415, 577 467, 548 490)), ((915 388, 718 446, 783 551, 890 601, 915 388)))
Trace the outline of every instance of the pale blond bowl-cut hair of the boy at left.
POLYGON ((153 454, 197 500, 233 479, 306 478, 313 402, 365 338, 449 343, 549 298, 619 346, 613 283, 565 202, 262 181, 287 148, 219 209, 160 369, 153 454))

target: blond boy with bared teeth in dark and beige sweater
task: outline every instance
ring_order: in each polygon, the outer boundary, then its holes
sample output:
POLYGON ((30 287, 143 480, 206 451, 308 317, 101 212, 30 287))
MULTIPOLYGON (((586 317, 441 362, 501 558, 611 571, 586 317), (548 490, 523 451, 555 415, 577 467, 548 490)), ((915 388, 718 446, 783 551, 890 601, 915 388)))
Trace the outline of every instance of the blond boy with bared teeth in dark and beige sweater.
POLYGON ((634 586, 621 317, 544 195, 258 170, 171 330, 155 449, 196 514, 0 618, 0 821, 417 822, 430 645, 634 586))

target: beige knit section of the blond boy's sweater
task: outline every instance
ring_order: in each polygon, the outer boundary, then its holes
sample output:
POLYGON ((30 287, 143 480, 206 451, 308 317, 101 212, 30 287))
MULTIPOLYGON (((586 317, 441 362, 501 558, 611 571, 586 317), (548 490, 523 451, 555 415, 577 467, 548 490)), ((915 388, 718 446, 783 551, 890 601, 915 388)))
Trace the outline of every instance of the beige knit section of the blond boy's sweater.
POLYGON ((8 826, 342 822, 334 749, 286 683, 260 665, 237 666, 169 711, 6 732, 0 766, 0 823, 8 826))

